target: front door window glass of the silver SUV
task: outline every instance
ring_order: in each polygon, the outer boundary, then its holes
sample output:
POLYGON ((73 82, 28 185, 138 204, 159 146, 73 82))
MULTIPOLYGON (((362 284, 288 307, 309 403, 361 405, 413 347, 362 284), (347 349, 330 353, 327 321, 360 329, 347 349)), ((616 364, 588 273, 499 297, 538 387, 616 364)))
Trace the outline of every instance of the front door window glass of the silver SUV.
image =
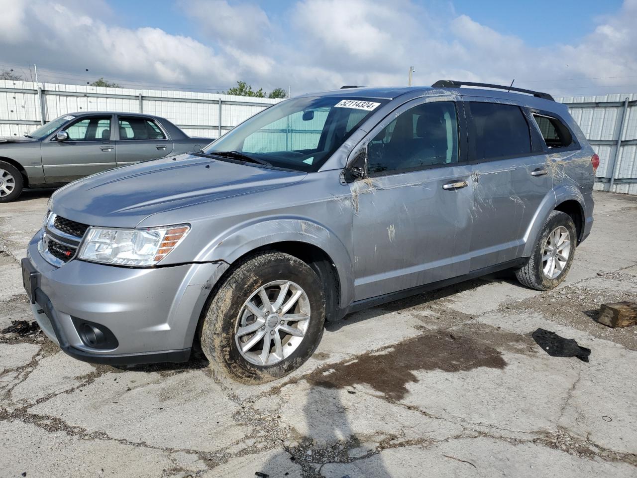
POLYGON ((458 162, 458 120, 452 101, 415 106, 385 126, 368 146, 368 170, 409 170, 458 162))

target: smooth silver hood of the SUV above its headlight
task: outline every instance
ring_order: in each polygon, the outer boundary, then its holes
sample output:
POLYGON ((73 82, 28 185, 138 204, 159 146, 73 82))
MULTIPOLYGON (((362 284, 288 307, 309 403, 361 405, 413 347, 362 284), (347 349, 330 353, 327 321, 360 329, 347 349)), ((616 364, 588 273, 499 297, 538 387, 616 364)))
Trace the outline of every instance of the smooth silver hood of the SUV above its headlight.
MULTIPOLYGON (((304 176, 183 154, 72 182, 53 194, 49 208, 90 226, 132 228, 152 214, 280 187, 304 176)), ((188 220, 184 212, 183 221, 188 220)))

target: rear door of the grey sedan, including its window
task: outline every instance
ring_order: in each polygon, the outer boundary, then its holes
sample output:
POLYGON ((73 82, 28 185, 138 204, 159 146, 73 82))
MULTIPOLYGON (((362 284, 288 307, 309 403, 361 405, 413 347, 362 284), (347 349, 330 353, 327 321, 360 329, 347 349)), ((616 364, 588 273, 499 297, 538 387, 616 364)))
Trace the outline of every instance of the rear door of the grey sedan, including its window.
POLYGON ((140 163, 171 154, 173 142, 152 118, 117 116, 117 166, 140 163))

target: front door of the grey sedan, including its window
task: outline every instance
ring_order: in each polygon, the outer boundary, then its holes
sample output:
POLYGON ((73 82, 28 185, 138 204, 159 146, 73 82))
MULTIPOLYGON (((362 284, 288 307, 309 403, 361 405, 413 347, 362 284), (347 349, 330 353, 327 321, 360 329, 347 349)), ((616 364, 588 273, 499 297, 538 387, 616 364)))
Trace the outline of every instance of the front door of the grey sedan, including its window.
POLYGON ((66 141, 55 140, 56 131, 41 143, 47 183, 64 183, 117 166, 115 141, 111 141, 111 115, 82 116, 64 126, 66 141))

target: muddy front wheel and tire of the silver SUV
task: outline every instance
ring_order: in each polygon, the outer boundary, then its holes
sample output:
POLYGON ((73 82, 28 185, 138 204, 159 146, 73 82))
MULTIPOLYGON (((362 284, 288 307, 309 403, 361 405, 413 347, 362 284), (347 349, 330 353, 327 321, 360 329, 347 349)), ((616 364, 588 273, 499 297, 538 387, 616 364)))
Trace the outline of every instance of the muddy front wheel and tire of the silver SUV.
POLYGON ((238 266, 210 300, 199 331, 210 366, 260 384, 296 370, 323 335, 325 294, 308 264, 270 252, 238 266))

